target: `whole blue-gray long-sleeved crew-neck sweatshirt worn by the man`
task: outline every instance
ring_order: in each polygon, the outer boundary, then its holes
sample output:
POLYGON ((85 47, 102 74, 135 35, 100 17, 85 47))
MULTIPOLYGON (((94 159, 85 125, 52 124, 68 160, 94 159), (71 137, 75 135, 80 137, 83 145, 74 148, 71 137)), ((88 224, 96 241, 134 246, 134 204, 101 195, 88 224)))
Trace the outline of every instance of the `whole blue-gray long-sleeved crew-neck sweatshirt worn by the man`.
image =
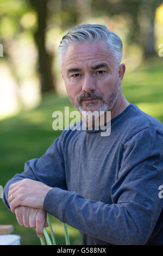
POLYGON ((163 245, 163 125, 134 104, 111 120, 109 136, 62 131, 7 182, 8 208, 10 184, 24 178, 53 187, 43 209, 78 229, 83 245, 163 245))

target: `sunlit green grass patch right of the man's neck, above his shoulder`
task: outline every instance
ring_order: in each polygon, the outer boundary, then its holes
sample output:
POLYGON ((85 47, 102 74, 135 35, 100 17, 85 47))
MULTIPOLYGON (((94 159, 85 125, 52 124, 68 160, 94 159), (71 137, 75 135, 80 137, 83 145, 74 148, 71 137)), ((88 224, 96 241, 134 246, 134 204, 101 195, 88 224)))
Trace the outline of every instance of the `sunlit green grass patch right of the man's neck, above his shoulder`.
POLYGON ((163 57, 146 60, 142 65, 126 74, 122 90, 130 103, 163 123, 163 57))

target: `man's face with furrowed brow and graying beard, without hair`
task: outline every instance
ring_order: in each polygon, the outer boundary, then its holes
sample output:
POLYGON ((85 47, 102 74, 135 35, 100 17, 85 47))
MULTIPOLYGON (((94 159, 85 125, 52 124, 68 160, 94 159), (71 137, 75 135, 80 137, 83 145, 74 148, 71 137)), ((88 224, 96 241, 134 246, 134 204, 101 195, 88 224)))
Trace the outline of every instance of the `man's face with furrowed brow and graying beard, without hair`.
POLYGON ((114 106, 121 79, 105 41, 69 45, 61 73, 68 96, 80 112, 106 112, 114 106))

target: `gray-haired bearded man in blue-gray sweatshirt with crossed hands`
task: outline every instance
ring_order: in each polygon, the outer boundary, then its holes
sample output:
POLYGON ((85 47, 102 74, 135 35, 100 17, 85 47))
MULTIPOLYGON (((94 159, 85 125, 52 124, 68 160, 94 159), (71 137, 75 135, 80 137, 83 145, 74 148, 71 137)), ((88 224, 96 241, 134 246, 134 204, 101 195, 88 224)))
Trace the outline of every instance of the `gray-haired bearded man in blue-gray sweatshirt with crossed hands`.
MULTIPOLYGON (((111 111, 111 133, 65 129, 4 188, 18 223, 42 235, 46 212, 79 229, 84 245, 163 245, 163 125, 122 94, 122 42, 102 25, 80 25, 59 46, 73 105, 111 111)), ((95 121, 95 119, 94 119, 95 121)), ((95 127, 95 123, 94 123, 95 127)))

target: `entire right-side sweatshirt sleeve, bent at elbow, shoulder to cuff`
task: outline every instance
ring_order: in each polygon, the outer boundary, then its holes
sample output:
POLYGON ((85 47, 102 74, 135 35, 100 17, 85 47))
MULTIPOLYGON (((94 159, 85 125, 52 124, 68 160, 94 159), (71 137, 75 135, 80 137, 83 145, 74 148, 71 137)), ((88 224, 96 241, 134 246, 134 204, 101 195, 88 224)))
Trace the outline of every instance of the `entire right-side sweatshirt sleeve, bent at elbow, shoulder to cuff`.
POLYGON ((145 245, 160 216, 163 199, 163 135, 149 127, 123 145, 121 168, 111 187, 112 204, 53 188, 43 208, 87 235, 114 245, 145 245))

